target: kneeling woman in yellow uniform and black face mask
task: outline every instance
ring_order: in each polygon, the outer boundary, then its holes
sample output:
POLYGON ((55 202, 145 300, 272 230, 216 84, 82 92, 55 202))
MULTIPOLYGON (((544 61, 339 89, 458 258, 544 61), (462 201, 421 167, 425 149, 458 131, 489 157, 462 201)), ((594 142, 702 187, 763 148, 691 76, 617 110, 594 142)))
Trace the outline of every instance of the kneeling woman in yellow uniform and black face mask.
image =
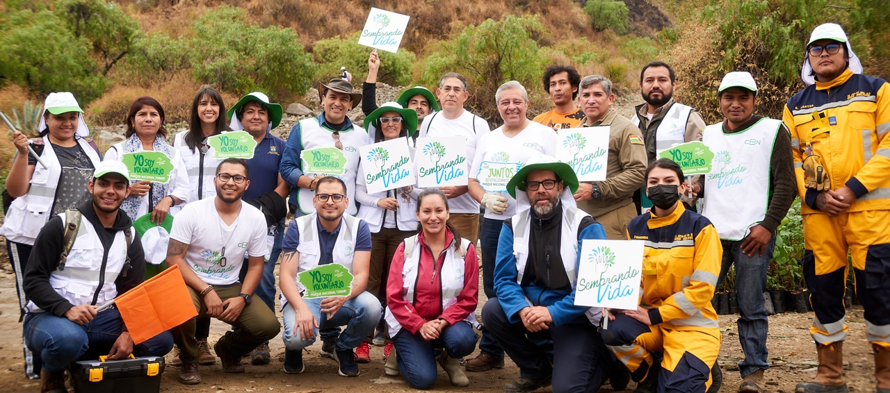
POLYGON ((603 323, 603 341, 646 391, 716 391, 720 330, 711 298, 720 237, 707 218, 679 202, 688 186, 678 164, 660 158, 645 176, 651 212, 627 225, 628 239, 645 241, 644 307, 612 310, 619 314, 603 323))

